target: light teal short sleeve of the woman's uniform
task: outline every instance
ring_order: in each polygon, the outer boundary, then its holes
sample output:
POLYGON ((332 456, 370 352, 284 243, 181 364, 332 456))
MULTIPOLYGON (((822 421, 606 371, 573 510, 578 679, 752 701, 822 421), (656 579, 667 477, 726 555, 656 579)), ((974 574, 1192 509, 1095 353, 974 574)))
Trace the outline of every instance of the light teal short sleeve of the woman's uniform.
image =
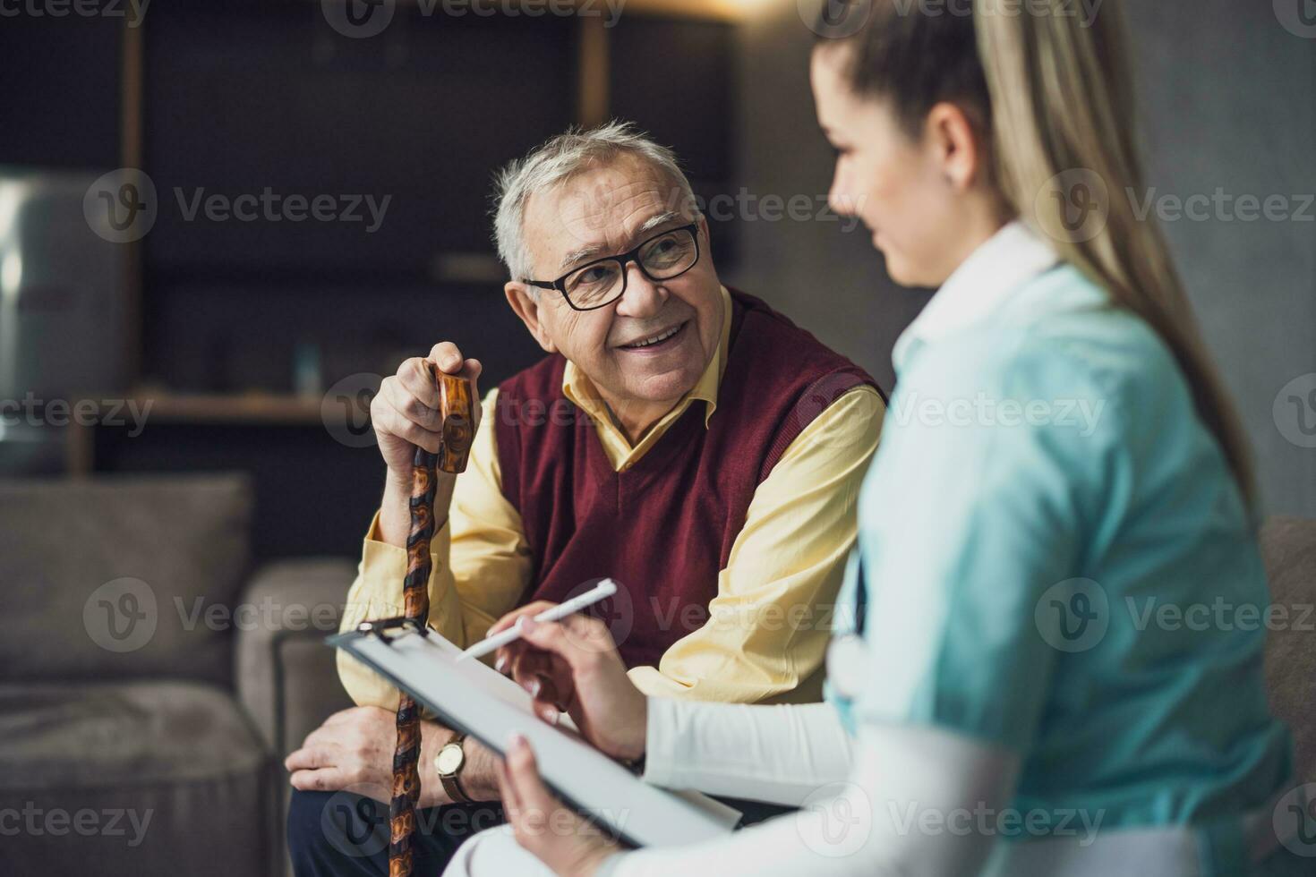
POLYGON ((1053 604, 1086 615, 1100 597, 1079 579, 1080 534, 1098 492, 1120 489, 1120 454, 1109 410, 1092 423, 1066 412, 1100 412, 1104 397, 1054 351, 942 352, 901 375, 898 429, 861 500, 859 726, 932 726, 1028 751, 1065 648, 1053 604))

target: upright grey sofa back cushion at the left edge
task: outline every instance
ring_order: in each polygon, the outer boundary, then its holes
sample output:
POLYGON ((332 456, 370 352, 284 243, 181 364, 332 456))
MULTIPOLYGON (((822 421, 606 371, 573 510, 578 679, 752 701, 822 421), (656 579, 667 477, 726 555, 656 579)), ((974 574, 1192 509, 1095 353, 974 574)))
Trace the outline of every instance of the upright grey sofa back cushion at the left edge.
POLYGON ((228 685, 245 476, 0 483, 0 681, 228 685))

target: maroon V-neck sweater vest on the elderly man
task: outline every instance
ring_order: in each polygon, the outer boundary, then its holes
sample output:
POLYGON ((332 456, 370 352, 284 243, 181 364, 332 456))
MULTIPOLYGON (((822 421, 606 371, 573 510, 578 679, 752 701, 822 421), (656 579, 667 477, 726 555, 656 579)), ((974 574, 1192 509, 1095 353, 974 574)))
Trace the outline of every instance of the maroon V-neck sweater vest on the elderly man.
POLYGON ((629 471, 612 469, 594 422, 563 396, 561 355, 499 387, 503 494, 534 557, 522 602, 562 602, 611 576, 617 594, 590 614, 608 622, 628 667, 657 665, 708 621, 758 484, 838 396, 876 387, 758 298, 732 292, 732 309, 708 427, 695 401, 629 471))

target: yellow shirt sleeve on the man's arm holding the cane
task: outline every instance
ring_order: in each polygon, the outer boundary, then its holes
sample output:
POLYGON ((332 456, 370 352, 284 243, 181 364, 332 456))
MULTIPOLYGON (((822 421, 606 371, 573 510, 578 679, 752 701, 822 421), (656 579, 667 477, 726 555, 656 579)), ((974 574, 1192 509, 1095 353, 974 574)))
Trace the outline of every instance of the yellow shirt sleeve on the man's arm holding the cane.
MULTIPOLYGON (((511 611, 530 580, 530 550, 521 515, 503 496, 495 446, 497 389, 482 402, 480 426, 466 472, 457 479, 447 522, 430 539, 429 625, 458 646, 482 639, 511 611)), ((379 515, 362 547, 341 630, 368 618, 401 615, 407 550, 379 540, 379 515)), ((397 689, 338 651, 338 677, 359 706, 397 707, 397 689)))

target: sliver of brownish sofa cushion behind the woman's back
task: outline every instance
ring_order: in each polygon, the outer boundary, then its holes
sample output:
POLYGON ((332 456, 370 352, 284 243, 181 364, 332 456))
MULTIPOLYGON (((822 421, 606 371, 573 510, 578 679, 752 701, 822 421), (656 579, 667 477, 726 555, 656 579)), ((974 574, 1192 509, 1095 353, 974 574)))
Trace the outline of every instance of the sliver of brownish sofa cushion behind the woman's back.
POLYGON ((1261 548, 1271 601, 1284 609, 1266 639, 1270 702, 1292 730, 1298 778, 1311 782, 1316 781, 1316 521, 1270 518, 1261 548))

